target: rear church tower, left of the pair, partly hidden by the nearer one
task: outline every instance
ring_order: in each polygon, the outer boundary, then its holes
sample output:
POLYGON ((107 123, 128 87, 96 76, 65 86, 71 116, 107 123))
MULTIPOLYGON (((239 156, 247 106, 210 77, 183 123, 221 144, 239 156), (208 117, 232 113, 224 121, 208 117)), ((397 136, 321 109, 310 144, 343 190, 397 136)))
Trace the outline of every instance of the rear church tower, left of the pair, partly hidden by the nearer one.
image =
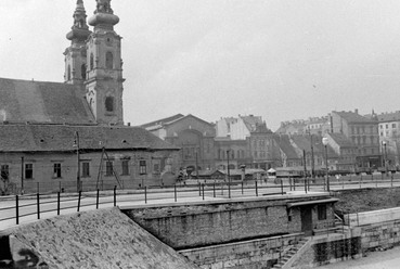
POLYGON ((65 74, 66 84, 82 85, 87 77, 87 52, 86 40, 91 31, 86 23, 86 11, 83 1, 78 0, 74 12, 74 25, 66 35, 70 46, 65 50, 65 74))

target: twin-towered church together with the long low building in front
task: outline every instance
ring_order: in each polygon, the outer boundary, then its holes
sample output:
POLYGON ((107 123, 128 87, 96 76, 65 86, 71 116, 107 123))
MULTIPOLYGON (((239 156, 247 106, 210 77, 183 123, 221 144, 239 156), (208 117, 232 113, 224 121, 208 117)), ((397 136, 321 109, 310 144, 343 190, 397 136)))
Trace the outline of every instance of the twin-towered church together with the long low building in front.
POLYGON ((173 183, 179 148, 124 125, 121 37, 111 0, 96 0, 88 21, 77 0, 73 17, 64 82, 0 78, 0 193, 173 183))

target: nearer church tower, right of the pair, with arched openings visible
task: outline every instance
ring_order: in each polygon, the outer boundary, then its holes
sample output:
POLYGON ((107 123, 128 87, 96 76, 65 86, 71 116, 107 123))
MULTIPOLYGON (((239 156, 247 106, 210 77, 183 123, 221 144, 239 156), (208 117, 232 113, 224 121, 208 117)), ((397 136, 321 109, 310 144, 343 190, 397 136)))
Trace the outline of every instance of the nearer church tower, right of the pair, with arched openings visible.
POLYGON ((86 98, 99 124, 122 125, 121 37, 114 31, 119 17, 114 15, 111 0, 96 0, 94 26, 87 40, 86 98))

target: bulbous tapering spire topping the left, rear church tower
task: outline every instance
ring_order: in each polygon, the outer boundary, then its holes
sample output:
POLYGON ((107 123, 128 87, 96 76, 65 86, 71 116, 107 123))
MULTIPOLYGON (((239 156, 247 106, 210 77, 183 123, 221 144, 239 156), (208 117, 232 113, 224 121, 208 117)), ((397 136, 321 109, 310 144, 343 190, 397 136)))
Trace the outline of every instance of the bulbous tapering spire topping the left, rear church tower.
POLYGON ((91 31, 89 30, 89 26, 86 22, 86 10, 83 7, 83 0, 77 0, 76 9, 74 12, 74 25, 72 30, 67 34, 67 39, 69 40, 77 40, 77 41, 85 41, 91 31))

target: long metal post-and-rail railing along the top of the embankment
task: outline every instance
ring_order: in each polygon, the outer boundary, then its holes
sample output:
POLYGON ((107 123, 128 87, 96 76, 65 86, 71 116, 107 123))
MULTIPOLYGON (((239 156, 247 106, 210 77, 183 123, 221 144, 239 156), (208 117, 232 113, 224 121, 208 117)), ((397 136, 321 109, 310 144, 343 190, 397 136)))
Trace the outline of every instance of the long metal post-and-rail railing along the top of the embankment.
MULTIPOLYGON (((395 180, 393 175, 383 177, 363 177, 358 178, 330 178, 331 190, 340 190, 349 188, 379 188, 399 185, 399 180, 395 180)), ((73 185, 73 182, 62 182, 56 185, 59 189, 54 193, 41 193, 41 185, 37 183, 37 193, 24 195, 9 195, 3 198, 0 207, 0 226, 3 221, 11 221, 18 225, 21 218, 29 218, 33 216, 40 219, 43 214, 60 215, 61 212, 79 212, 83 207, 99 208, 100 205, 116 206, 117 203, 137 203, 146 204, 149 201, 168 198, 173 202, 188 197, 197 197, 206 200, 207 197, 240 197, 240 196, 259 196, 259 195, 284 195, 288 191, 322 191, 326 189, 325 179, 282 179, 270 182, 268 180, 251 181, 217 181, 217 180, 188 180, 169 187, 144 187, 141 189, 117 189, 117 185, 109 188, 111 190, 96 189, 95 191, 83 191, 90 188, 81 188, 77 193, 67 193, 64 189, 73 185), (64 191, 64 192, 63 192, 64 191), (22 203, 23 201, 23 203, 22 203)), ((76 190, 76 185, 75 187, 76 190)))

